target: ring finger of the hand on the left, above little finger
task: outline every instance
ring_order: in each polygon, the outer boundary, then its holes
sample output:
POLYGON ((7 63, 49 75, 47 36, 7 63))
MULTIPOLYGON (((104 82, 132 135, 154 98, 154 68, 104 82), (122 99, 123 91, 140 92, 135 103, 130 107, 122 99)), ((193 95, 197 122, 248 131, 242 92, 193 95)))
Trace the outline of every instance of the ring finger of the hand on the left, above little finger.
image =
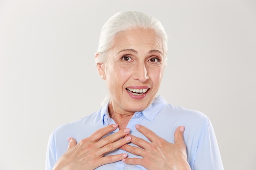
POLYGON ((127 136, 127 137, 124 137, 123 139, 120 139, 113 143, 109 143, 106 146, 104 146, 103 148, 101 148, 101 150, 99 152, 101 155, 104 155, 108 152, 111 152, 112 150, 120 148, 121 146, 123 146, 125 144, 128 144, 131 141, 131 139, 132 139, 131 136, 127 136))

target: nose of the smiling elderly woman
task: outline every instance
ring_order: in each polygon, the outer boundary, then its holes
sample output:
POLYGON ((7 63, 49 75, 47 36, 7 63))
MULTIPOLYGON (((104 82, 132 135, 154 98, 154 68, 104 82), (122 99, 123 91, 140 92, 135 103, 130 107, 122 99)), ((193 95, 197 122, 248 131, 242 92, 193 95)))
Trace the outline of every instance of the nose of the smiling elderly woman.
POLYGON ((139 82, 145 82, 148 79, 148 70, 144 63, 135 66, 133 78, 139 80, 139 82))

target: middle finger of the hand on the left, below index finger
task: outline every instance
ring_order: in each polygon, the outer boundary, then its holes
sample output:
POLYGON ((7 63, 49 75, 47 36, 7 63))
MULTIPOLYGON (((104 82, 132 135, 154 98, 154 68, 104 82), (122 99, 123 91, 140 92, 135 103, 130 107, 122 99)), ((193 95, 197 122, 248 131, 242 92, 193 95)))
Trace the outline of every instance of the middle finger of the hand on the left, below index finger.
POLYGON ((105 137, 104 139, 101 139, 98 142, 97 146, 98 147, 106 146, 107 144, 113 143, 113 142, 119 140, 120 138, 128 135, 129 133, 130 133, 130 129, 129 128, 125 128, 123 130, 119 130, 118 132, 116 132, 116 133, 114 133, 112 135, 109 135, 109 136, 105 137))

